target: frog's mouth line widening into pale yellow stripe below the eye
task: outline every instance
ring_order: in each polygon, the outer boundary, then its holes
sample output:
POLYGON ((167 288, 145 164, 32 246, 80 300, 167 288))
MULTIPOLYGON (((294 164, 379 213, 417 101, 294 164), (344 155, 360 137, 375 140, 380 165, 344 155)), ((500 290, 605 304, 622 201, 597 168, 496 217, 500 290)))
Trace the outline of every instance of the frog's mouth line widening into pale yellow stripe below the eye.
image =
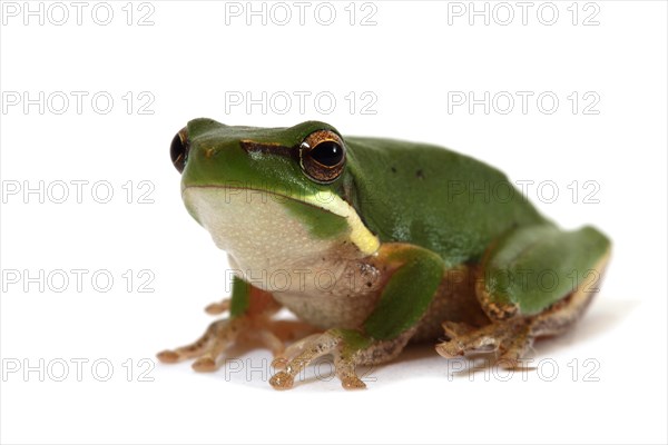
MULTIPOLYGON (((288 195, 279 194, 276 191, 269 190, 261 190, 253 187, 236 187, 236 186, 185 186, 181 187, 181 196, 185 194, 187 189, 219 189, 219 190, 238 190, 246 192, 257 192, 262 195, 266 194, 267 196, 274 196, 279 199, 275 200, 276 202, 281 202, 281 200, 292 200, 294 202, 301 202, 313 208, 317 208, 321 210, 326 210, 336 216, 343 217, 346 219, 347 225, 351 227, 351 240, 357 246, 357 248, 366 254, 374 254, 380 247, 381 241, 379 238, 373 235, 362 222, 360 219, 360 215, 357 211, 346 201, 344 201, 340 196, 331 192, 331 191, 317 191, 314 195, 305 195, 303 199, 295 198, 288 195)), ((230 195, 232 197, 232 195, 230 195)), ((247 197, 247 201, 252 202, 253 196, 247 197)))

